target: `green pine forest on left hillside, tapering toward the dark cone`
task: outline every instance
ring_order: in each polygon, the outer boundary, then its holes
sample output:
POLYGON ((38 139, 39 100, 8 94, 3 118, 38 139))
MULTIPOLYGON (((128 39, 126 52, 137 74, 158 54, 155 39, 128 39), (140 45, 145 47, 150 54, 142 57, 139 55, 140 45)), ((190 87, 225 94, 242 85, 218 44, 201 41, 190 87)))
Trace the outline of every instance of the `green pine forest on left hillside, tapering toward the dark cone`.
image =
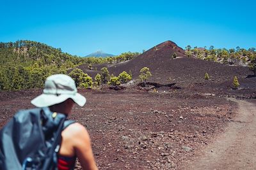
POLYGON ((0 42, 0 90, 42 88, 45 78, 51 74, 67 74, 69 69, 81 64, 123 62, 138 55, 140 53, 126 52, 106 58, 78 57, 36 41, 0 42))

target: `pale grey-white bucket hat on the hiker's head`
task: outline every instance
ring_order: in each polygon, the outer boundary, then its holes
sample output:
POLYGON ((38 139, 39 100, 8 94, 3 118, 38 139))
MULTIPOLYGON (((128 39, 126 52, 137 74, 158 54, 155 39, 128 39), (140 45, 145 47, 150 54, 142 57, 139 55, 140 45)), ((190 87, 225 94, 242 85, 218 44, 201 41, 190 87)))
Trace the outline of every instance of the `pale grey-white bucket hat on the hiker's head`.
POLYGON ((62 103, 68 98, 79 106, 84 106, 86 98, 77 93, 75 81, 66 74, 54 74, 45 80, 44 92, 31 101, 38 108, 62 103))

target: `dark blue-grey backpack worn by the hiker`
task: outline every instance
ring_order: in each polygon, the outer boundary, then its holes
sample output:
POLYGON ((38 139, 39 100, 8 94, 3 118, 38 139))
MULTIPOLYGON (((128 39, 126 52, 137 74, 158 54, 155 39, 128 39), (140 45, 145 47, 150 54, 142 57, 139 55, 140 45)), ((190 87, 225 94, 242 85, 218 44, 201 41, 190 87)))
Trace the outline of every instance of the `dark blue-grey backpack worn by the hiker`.
POLYGON ((49 108, 21 110, 0 131, 0 170, 58 169, 61 131, 74 121, 49 108))

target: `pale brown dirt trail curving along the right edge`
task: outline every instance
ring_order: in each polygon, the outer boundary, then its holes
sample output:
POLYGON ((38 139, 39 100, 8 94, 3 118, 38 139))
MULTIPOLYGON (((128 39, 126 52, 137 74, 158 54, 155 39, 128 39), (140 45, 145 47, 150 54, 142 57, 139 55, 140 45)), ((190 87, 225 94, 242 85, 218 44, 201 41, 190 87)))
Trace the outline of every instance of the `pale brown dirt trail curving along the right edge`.
POLYGON ((237 117, 184 169, 256 169, 255 104, 230 100, 239 104, 237 117))

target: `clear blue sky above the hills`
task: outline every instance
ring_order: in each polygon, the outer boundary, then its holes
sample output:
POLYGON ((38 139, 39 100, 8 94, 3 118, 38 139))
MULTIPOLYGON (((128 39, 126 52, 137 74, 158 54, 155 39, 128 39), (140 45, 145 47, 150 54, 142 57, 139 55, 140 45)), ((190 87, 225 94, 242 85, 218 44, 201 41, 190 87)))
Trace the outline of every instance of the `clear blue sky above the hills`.
POLYGON ((256 46, 256 1, 24 0, 0 3, 0 41, 39 41, 72 55, 142 52, 163 41, 256 46))

